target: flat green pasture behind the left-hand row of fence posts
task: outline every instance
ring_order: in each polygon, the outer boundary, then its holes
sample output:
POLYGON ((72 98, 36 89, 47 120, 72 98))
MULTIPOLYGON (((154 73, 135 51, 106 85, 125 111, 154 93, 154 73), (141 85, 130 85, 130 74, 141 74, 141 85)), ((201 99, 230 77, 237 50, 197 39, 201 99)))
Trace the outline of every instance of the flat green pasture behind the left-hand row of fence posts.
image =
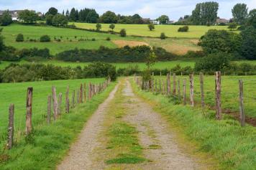
POLYGON ((33 107, 32 107, 32 124, 40 125, 45 123, 47 114, 47 95, 52 94, 52 85, 55 85, 57 94, 63 93, 63 113, 65 103, 65 91, 70 86, 70 98, 73 90, 78 90, 81 83, 88 82, 99 83, 104 82, 104 78, 98 79, 82 79, 82 80, 55 80, 41 82, 21 82, 21 83, 1 83, 0 84, 0 138, 6 134, 8 123, 9 105, 14 103, 14 132, 16 138, 22 135, 26 120, 26 96, 27 88, 33 87, 33 107))

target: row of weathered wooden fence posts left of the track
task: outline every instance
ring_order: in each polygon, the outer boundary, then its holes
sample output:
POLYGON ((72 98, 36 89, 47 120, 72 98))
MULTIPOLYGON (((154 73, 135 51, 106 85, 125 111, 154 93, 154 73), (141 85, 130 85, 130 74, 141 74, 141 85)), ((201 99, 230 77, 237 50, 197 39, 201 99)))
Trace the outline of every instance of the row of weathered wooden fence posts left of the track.
MULTIPOLYGON (((99 84, 92 84, 91 82, 88 83, 88 87, 86 86, 86 83, 81 83, 79 85, 78 90, 74 90, 72 93, 72 103, 71 108, 75 108, 77 105, 81 103, 86 103, 95 95, 98 95, 99 93, 104 92, 106 88, 108 87, 109 83, 111 82, 110 78, 108 78, 106 81, 99 83, 99 84), (77 91, 77 96, 76 96, 77 91), (87 95, 88 94, 88 95, 87 95), (75 98, 77 97, 77 100, 75 98)), ((51 123, 54 123, 58 120, 58 118, 61 117, 63 114, 63 109, 65 110, 65 113, 70 113, 70 99, 69 99, 69 85, 67 86, 67 90, 65 93, 65 107, 63 107, 63 93, 56 93, 55 86, 52 86, 52 94, 46 96, 47 100, 47 111, 45 112, 45 116, 43 117, 41 124, 47 123, 50 125, 51 123), (52 116, 53 114, 53 116, 52 116)), ((30 133, 33 131, 33 124, 32 124, 32 115, 36 113, 32 113, 32 107, 33 105, 37 105, 37 103, 33 103, 33 93, 34 90, 32 87, 27 88, 27 104, 26 104, 26 123, 25 123, 25 133, 21 129, 17 129, 19 131, 19 134, 25 134, 26 136, 29 136, 30 133)), ((40 103, 38 103, 40 105, 40 103)), ((14 134, 14 130, 16 131, 14 127, 14 119, 15 119, 15 110, 14 110, 14 104, 9 105, 9 124, 8 124, 8 132, 7 132, 7 143, 6 148, 11 149, 14 143, 14 137, 20 138, 21 136, 16 136, 14 134)), ((38 125, 38 124, 37 124, 38 125)))

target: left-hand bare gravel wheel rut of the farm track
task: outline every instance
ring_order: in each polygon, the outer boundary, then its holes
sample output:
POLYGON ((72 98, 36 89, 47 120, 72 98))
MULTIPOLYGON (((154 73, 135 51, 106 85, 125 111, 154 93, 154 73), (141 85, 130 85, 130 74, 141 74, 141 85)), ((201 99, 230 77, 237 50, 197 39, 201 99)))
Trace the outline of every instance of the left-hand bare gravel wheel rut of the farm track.
POLYGON ((106 114, 106 108, 109 106, 109 102, 114 98, 114 94, 118 89, 116 88, 109 94, 104 103, 99 105, 99 108, 91 116, 90 120, 86 123, 86 126, 81 131, 80 136, 76 143, 71 146, 68 156, 57 167, 59 170, 91 170, 91 169, 104 169, 101 164, 94 164, 93 158, 94 150, 101 145, 97 138, 99 133, 103 131, 104 115, 106 114))

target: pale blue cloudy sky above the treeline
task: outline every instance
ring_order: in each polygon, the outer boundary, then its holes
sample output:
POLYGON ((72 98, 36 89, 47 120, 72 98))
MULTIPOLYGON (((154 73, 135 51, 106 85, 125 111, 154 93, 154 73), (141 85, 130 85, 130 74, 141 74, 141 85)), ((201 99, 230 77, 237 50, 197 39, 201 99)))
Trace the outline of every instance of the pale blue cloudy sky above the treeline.
MULTIPOLYGON (((210 0, 208 0, 210 1, 210 0)), ((211 0, 213 1, 213 0, 211 0)), ((219 2, 219 14, 221 18, 232 18, 232 7, 237 3, 247 4, 249 10, 256 9, 256 0, 215 0, 219 2)), ((33 9, 45 13, 54 6, 62 12, 63 9, 93 8, 99 14, 105 11, 114 11, 116 14, 133 15, 140 14, 143 18, 156 19, 162 14, 169 16, 170 20, 177 21, 180 16, 191 14, 198 0, 0 0, 0 9, 33 9)))

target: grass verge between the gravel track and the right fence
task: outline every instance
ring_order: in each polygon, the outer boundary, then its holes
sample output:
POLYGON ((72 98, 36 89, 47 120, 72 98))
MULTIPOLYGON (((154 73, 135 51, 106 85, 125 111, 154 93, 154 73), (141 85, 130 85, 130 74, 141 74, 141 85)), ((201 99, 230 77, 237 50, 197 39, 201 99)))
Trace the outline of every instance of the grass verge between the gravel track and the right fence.
POLYGON ((196 143, 198 151, 211 154, 219 161, 219 169, 254 169, 256 167, 256 130, 252 126, 242 128, 239 122, 224 115, 214 120, 214 111, 190 106, 175 105, 169 98, 143 92, 132 82, 134 93, 150 102, 186 141, 196 143))

